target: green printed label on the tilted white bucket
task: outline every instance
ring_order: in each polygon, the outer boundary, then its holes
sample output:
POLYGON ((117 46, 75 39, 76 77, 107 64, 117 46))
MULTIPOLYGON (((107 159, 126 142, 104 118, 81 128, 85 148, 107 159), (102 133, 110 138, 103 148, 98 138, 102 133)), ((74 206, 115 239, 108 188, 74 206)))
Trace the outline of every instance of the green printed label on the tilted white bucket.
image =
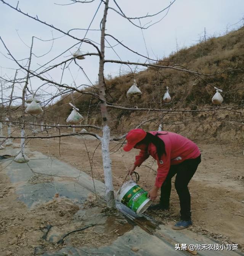
POLYGON ((147 191, 140 186, 135 185, 124 195, 121 203, 136 212, 141 204, 148 199, 147 194, 147 191))

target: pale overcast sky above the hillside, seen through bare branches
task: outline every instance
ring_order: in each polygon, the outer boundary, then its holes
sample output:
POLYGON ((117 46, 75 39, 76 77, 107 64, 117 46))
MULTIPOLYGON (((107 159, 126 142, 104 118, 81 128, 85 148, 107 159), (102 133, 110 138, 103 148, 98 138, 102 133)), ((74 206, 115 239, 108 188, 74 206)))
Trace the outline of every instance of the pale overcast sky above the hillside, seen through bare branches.
MULTIPOLYGON (((18 2, 17 0, 5 1, 13 6, 16 6, 18 2)), ((95 0, 92 3, 62 5, 68 3, 71 3, 71 1, 19 0, 18 8, 29 15, 37 15, 40 20, 45 21, 48 24, 53 24, 53 26, 60 28, 65 32, 74 28, 87 29, 96 10, 98 9, 98 6, 100 5, 100 0, 95 0)), ((117 3, 120 5, 125 15, 138 17, 144 16, 147 13, 157 13, 167 7, 170 4, 170 1, 117 0, 117 3)), ((109 5, 118 10, 112 0, 110 0, 109 5)), ((103 9, 104 4, 102 3, 96 13, 90 29, 99 29, 100 21, 103 16, 103 9)), ((152 24, 159 21, 166 15, 166 12, 167 10, 156 17, 141 19, 141 24, 144 25, 148 22, 150 22, 148 24, 152 24)), ((122 18, 115 11, 110 9, 108 11, 106 33, 112 34, 119 41, 122 41, 123 44, 143 55, 147 55, 148 50, 149 57, 162 58, 176 51, 176 41, 179 49, 196 44, 199 42, 199 38, 203 37, 204 28, 206 29, 207 37, 221 36, 226 33, 226 30, 231 31, 240 27, 243 24, 243 17, 243 0, 176 0, 170 7, 167 15, 159 23, 143 30, 133 26, 127 19, 122 18), (142 32, 144 34, 146 46, 142 32)), ((32 36, 38 37, 42 40, 50 40, 52 37, 60 37, 55 41, 43 42, 38 39, 34 40, 34 54, 36 56, 41 56, 47 52, 48 54, 39 58, 33 57, 31 70, 36 70, 40 66, 65 52, 73 45, 79 43, 79 41, 68 36, 64 36, 61 32, 56 31, 45 24, 41 24, 38 21, 18 13, 1 2, 0 22, 2 24, 0 27, 0 36, 9 48, 10 52, 13 54, 14 58, 18 60, 29 57, 29 48, 26 45, 30 46, 32 36)), ((139 25, 138 20, 134 20, 134 22, 139 25)), ((84 30, 73 30, 71 34, 76 37, 83 38, 85 32, 86 31, 84 30)), ((96 43, 99 43, 100 31, 88 31, 86 37, 96 43)), ((109 37, 107 39, 111 45, 116 45, 116 42, 113 39, 109 37)), ((106 45, 109 46, 108 44, 106 45)), ((66 60, 71 57, 70 55, 74 53, 78 47, 79 44, 72 47, 71 50, 62 54, 48 65, 57 64, 66 60)), ((95 52, 93 47, 85 43, 81 45, 80 49, 84 53, 95 52)), ((116 60, 121 58, 124 61, 130 60, 133 62, 145 61, 144 58, 131 53, 120 45, 115 46, 114 50, 117 54, 111 48, 106 48, 105 58, 116 60)), ((1 76, 13 78, 15 73, 14 69, 18 68, 18 66, 15 62, 9 60, 5 56, 9 57, 2 42, 0 42, 0 74, 1 76)), ((80 65, 92 83, 95 83, 98 79, 98 62, 99 59, 96 56, 86 57, 85 60, 79 60, 80 65)), ((26 60, 23 60, 20 63, 22 65, 26 65, 26 60)), ((135 69, 135 67, 132 68, 133 70, 135 69)), ((42 69, 40 69, 40 71, 41 70, 42 69)), ((106 63, 104 73, 106 76, 117 76, 119 75, 119 70, 123 73, 130 71, 127 66, 122 66, 120 68, 119 64, 106 63)), ((46 74, 46 77, 60 82, 61 75, 62 70, 60 68, 56 68, 46 74)), ((19 71, 18 78, 24 76, 25 74, 22 71, 19 71)), ((37 89, 37 87, 43 84, 43 82, 37 78, 32 78, 30 82, 32 89, 37 89)), ((74 65, 74 63, 71 63, 69 68, 66 68, 62 82, 72 86, 90 84, 82 71, 79 70, 78 66, 74 65)), ((21 85, 18 87, 20 89, 21 85)), ((47 92, 56 92, 55 87, 44 86, 42 88, 47 92)), ((19 92, 20 90, 17 89, 14 93, 17 95, 19 92)), ((39 93, 43 93, 43 91, 40 91, 39 89, 39 93)), ((8 96, 9 92, 6 91, 5 94, 8 96)))

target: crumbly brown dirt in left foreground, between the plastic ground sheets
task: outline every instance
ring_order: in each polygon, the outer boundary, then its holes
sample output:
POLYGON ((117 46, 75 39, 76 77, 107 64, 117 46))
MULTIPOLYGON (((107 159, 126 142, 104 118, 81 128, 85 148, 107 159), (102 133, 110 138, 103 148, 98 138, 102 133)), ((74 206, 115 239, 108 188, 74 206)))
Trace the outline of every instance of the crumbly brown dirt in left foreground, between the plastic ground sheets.
MULTIPOLYGON (((42 182, 47 182, 45 178, 41 179, 42 182)), ((28 182, 33 181, 37 184, 40 179, 38 181, 37 177, 28 182)), ((11 186, 9 178, 0 172, 1 256, 55 253, 67 245, 96 248, 111 244, 117 237, 133 228, 120 212, 108 209, 106 204, 96 201, 92 193, 82 205, 59 197, 27 209, 27 206, 18 200, 14 190, 15 187, 11 186), (91 222, 96 224, 93 226, 91 222), (80 228, 85 229, 79 231, 80 228), (69 232, 71 234, 64 237, 69 232), (59 242, 61 238, 63 240, 59 242)))

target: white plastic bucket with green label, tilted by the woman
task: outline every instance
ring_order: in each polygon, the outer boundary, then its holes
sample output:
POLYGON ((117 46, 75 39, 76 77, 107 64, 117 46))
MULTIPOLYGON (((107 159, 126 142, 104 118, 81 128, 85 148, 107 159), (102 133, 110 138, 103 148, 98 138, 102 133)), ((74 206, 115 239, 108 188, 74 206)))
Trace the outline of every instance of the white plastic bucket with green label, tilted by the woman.
POLYGON ((136 214, 148 209, 152 201, 147 198, 148 192, 137 185, 133 180, 127 181, 117 192, 116 200, 132 209, 136 214))

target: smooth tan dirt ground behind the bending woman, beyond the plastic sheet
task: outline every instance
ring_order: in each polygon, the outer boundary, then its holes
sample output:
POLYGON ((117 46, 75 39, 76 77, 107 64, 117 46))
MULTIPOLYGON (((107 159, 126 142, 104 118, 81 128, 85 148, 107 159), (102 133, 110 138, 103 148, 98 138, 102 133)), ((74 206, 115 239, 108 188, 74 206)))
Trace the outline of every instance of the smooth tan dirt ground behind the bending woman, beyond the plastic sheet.
MULTIPOLYGON (((57 139, 49 142, 38 140, 38 143, 32 140, 29 146, 92 175, 88 159, 89 153, 90 159, 93 159, 93 175, 96 179, 103 181, 103 165, 99 143, 98 140, 89 139, 87 136, 83 136, 83 138, 82 136, 62 138, 60 144, 61 156, 59 155, 57 139)), ((197 144, 202 153, 202 162, 189 183, 194 222, 192 229, 208 233, 213 238, 222 238, 223 241, 232 241, 244 246, 243 151, 237 148, 235 144, 197 144)), ((138 153, 136 149, 124 152, 120 147, 121 143, 112 142, 110 145, 115 190, 124 181, 127 168, 133 164, 135 155, 138 153)), ((152 157, 149 157, 143 165, 136 169, 140 173, 139 184, 149 190, 154 184, 157 164, 152 157)), ((166 214, 167 217, 161 220, 164 222, 172 219, 177 220, 179 210, 178 195, 172 186, 170 212, 166 214)), ((150 212, 150 214, 157 218, 157 213, 150 212)), ((158 218, 160 219, 160 217, 158 218)))

